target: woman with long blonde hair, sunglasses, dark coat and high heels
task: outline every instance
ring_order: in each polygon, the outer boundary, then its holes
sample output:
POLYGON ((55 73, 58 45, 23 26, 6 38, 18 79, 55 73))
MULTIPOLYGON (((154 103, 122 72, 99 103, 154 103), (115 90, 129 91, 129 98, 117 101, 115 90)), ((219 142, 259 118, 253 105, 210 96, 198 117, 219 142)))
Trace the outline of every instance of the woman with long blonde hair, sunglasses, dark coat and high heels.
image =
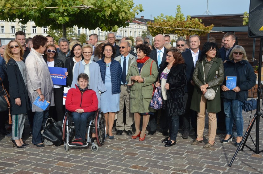
POLYGON ((23 54, 23 47, 15 40, 7 44, 4 53, 11 101, 12 141, 14 147, 16 146, 17 148, 24 148, 28 145, 22 140, 26 113, 29 110, 26 81, 27 69, 23 54))

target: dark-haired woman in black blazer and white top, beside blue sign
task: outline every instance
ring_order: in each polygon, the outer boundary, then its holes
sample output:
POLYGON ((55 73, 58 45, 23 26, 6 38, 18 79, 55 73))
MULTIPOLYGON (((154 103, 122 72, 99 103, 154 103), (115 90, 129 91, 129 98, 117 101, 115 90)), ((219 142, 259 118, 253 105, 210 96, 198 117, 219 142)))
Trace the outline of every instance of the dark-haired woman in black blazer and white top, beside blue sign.
POLYGON ((82 56, 82 45, 75 44, 73 45, 70 51, 70 57, 65 61, 65 68, 68 69, 68 77, 67 77, 67 86, 70 87, 72 84, 72 79, 74 75, 74 69, 76 67, 77 62, 82 61, 84 57, 82 56))

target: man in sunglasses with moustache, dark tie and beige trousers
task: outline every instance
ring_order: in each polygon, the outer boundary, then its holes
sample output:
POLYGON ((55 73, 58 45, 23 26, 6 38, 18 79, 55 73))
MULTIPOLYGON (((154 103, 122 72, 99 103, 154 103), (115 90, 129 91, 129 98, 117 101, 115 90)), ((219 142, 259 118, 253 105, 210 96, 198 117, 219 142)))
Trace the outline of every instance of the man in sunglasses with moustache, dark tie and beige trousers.
MULTIPOLYGON (((133 114, 130 113, 130 92, 128 90, 126 75, 130 68, 130 65, 136 61, 136 57, 131 55, 130 52, 131 45, 128 41, 122 41, 119 46, 119 50, 121 55, 115 57, 116 61, 119 61, 122 67, 122 82, 121 82, 121 92, 120 92, 120 110, 117 112, 117 120, 116 126, 117 129, 116 135, 122 135, 123 131, 126 132, 127 135, 132 135, 132 128, 131 125, 133 124, 133 114), (124 101, 125 101, 125 108, 126 114, 123 115, 124 109, 124 101), (123 123, 123 117, 126 117, 126 123, 123 123)), ((125 110, 124 110, 125 111, 125 110)))

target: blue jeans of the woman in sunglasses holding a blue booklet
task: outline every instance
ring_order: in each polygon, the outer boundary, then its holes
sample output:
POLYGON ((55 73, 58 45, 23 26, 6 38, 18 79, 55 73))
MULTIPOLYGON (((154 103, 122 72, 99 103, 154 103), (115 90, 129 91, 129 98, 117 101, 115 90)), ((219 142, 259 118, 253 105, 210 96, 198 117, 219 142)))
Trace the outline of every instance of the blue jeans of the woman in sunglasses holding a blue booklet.
POLYGON ((226 133, 232 135, 233 122, 236 123, 237 136, 243 136, 243 102, 235 99, 224 99, 226 114, 226 133))

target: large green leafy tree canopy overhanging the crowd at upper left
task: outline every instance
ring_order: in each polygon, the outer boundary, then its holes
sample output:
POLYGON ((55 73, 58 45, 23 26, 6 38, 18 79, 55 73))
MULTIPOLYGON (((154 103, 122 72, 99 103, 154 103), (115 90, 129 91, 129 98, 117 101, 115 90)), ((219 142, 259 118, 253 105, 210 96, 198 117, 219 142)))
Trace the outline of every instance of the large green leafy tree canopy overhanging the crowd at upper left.
POLYGON ((21 24, 34 21, 39 27, 62 29, 63 37, 66 37, 67 27, 90 30, 99 27, 102 31, 117 31, 118 27, 126 27, 129 25, 126 21, 143 11, 141 4, 133 5, 132 0, 3 0, 0 2, 0 20, 15 22, 19 19, 21 24), (82 10, 72 8, 81 5, 93 7, 82 10))

